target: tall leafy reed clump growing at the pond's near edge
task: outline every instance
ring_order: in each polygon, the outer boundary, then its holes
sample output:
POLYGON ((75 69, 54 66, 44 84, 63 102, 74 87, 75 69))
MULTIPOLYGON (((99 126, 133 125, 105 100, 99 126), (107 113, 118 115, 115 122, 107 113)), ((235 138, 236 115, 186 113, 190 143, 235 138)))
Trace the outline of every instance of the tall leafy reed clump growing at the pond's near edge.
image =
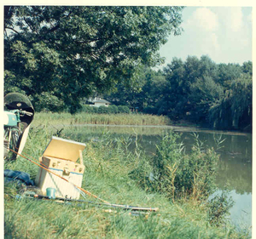
POLYGON ((214 184, 218 155, 213 149, 202 151, 196 142, 189 155, 177 143, 177 134, 167 134, 157 146, 152 159, 155 189, 174 200, 180 196, 193 199, 207 198, 215 189, 214 184))

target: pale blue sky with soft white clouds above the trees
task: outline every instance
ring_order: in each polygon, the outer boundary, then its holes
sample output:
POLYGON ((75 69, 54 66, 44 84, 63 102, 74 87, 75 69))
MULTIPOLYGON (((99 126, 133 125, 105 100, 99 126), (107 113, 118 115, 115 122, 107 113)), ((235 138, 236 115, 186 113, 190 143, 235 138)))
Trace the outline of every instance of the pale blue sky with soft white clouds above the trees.
MULTIPOLYGON (((160 48, 165 65, 173 57, 208 55, 215 63, 238 63, 252 60, 252 7, 186 7, 183 9, 183 32, 171 35, 160 48)), ((159 67, 162 68, 162 67, 159 67)))

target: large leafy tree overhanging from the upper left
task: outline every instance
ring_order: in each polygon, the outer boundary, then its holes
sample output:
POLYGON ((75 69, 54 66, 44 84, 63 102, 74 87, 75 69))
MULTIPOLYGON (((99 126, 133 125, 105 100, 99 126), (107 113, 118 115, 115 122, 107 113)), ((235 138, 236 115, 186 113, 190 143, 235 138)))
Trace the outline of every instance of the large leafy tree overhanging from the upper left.
POLYGON ((182 7, 5 6, 5 93, 20 91, 54 109, 104 93, 180 33, 182 7))

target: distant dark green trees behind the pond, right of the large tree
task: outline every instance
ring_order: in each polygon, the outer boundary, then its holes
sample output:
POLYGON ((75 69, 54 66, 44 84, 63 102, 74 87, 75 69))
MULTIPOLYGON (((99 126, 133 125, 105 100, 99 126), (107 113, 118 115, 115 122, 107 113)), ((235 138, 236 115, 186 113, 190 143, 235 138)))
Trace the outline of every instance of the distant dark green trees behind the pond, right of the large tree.
POLYGON ((183 61, 173 58, 163 70, 144 67, 137 86, 105 97, 116 105, 129 105, 149 114, 166 115, 216 129, 247 129, 252 126, 251 61, 216 64, 207 55, 183 61))

